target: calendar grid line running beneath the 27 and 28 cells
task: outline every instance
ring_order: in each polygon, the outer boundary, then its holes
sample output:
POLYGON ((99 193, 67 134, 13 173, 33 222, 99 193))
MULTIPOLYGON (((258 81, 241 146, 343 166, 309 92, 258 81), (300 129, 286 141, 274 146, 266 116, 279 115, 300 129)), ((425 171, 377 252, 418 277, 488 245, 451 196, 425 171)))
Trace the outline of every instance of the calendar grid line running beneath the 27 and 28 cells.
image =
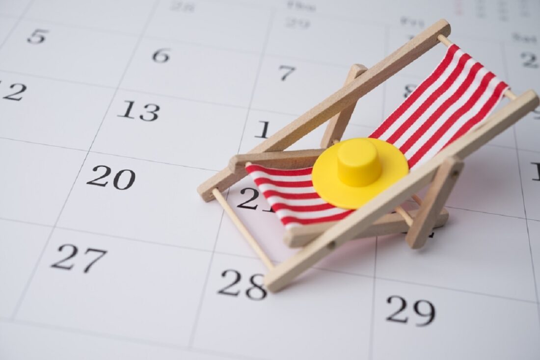
POLYGON ((9 323, 14 323, 14 324, 24 325, 24 326, 29 326, 29 327, 36 327, 36 328, 56 330, 56 331, 64 331, 64 332, 70 332, 70 333, 73 333, 73 334, 111 339, 111 340, 114 340, 114 341, 151 345, 151 346, 156 346, 156 347, 160 347, 160 348, 170 348, 170 349, 176 349, 176 350, 190 351, 190 352, 195 352, 195 353, 199 353, 199 354, 208 354, 208 355, 214 354, 214 355, 219 355, 219 356, 225 356, 225 357, 232 358, 232 359, 267 360, 265 358, 260 358, 260 357, 250 357, 250 356, 245 356, 245 355, 242 355, 242 354, 231 354, 231 353, 228 353, 228 352, 213 351, 213 350, 207 350, 207 349, 201 349, 201 348, 187 348, 187 347, 183 347, 182 345, 177 345, 177 344, 172 344, 172 343, 157 342, 157 341, 147 340, 147 339, 138 338, 138 337, 122 336, 122 335, 110 334, 110 333, 107 333, 107 332, 71 328, 71 327, 65 327, 65 326, 62 326, 62 325, 40 323, 40 322, 36 322, 36 321, 10 320, 10 319, 4 320, 1 317, 0 317, 0 321, 1 322, 9 322, 9 323))

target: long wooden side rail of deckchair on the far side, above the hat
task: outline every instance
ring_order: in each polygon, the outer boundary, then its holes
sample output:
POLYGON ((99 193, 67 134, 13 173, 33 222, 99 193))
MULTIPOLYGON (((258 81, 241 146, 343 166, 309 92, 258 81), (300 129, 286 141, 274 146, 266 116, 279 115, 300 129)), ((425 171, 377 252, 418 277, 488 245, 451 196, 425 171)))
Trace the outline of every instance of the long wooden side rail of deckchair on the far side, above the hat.
MULTIPOLYGON (((431 47, 438 44, 438 35, 448 36, 449 33, 450 24, 444 19, 437 21, 411 39, 407 44, 381 60, 381 62, 370 67, 361 76, 341 87, 341 89, 294 120, 291 124, 261 142, 261 144, 254 147, 249 153, 285 150, 335 114, 354 104, 362 96, 375 89, 375 87, 413 62, 431 49, 431 47)), ((197 191, 205 201, 210 201, 214 198, 212 195, 214 188, 224 191, 242 179, 243 176, 245 174, 235 174, 227 167, 199 185, 197 191)))

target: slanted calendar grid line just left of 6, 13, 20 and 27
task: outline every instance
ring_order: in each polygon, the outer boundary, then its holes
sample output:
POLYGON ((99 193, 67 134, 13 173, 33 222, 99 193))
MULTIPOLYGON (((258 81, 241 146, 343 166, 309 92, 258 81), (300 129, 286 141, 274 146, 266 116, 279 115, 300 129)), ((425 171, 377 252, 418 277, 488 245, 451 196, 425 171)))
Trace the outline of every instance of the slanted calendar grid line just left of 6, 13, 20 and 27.
MULTIPOLYGON (((136 51, 137 51, 137 47, 138 47, 139 44, 140 44, 140 40, 143 38, 144 32, 146 31, 146 28, 147 28, 148 24, 150 23, 150 19, 151 19, 152 15, 153 15, 154 11, 156 11, 158 2, 159 2, 159 0, 154 1, 153 9, 152 9, 152 11, 150 12, 149 17, 147 18, 147 21, 146 21, 145 26, 144 26, 144 28, 143 28, 143 32, 142 32, 141 35, 139 36, 138 42, 134 45, 133 51, 132 51, 132 53, 131 53, 131 57, 130 57, 130 59, 128 60, 128 62, 127 62, 127 64, 126 64, 125 70, 124 70, 124 72, 123 72, 123 74, 122 74, 122 77, 120 77, 120 81, 119 81, 118 85, 120 85, 120 83, 122 83, 122 79, 124 78, 125 73, 127 72, 127 68, 129 67, 129 64, 131 63, 131 60, 132 60, 133 57, 135 56, 135 53, 136 53, 136 51)), ((30 9, 30 8, 28 8, 28 9, 30 9)), ((28 9, 27 9, 27 10, 28 10, 28 9)), ((87 151, 86 154, 85 154, 85 157, 84 157, 84 159, 83 159, 83 161, 82 161, 82 164, 80 165, 80 167, 79 167, 79 169, 78 169, 78 172, 77 172, 77 174, 76 174, 76 176, 75 176, 75 179, 73 179, 73 182, 72 182, 71 187, 70 187, 70 189, 69 189, 68 195, 66 196, 66 198, 65 198, 65 200, 64 200, 64 203, 63 203, 62 207, 60 208, 60 212, 59 212, 59 214, 58 214, 58 216, 57 216, 57 218, 56 218, 56 221, 55 221, 54 225, 52 226, 51 231, 49 232, 49 236, 47 237, 47 240, 45 241, 45 243, 44 243, 44 245, 43 245, 43 247, 42 247, 42 249, 41 249, 41 252, 39 253, 39 256, 37 257, 35 266, 34 266, 33 269, 32 269, 32 272, 31 272, 31 274, 30 274, 30 277, 29 277, 28 281, 26 281, 26 283, 25 283, 25 286, 24 286, 24 288, 23 288, 23 291, 22 291, 22 293, 21 293, 21 296, 19 296, 19 298, 18 298, 18 301, 17 301, 17 303, 16 303, 16 305, 15 305, 15 308, 14 308, 12 314, 11 314, 11 318, 14 319, 14 320, 15 320, 15 318, 17 317, 18 311, 19 311, 19 309, 21 308, 21 305, 22 305, 23 302, 24 302, 24 298, 26 297, 26 293, 28 293, 28 289, 30 288, 31 283, 32 283, 32 280, 34 279, 34 277, 35 277, 35 275, 36 275, 37 268, 38 268, 38 266, 39 266, 41 260, 43 259, 43 255, 44 255, 44 253, 45 253, 45 249, 48 247, 49 242, 50 242, 50 240, 51 240, 51 238, 52 238, 52 234, 55 232, 55 228, 56 228, 56 226, 58 225, 58 221, 60 220, 60 217, 62 216, 62 213, 63 213, 63 211, 64 211, 64 208, 65 208, 65 206, 66 206, 66 203, 68 203, 68 200, 69 200, 69 198, 70 198, 71 192, 73 191, 73 187, 75 187, 75 184, 76 184, 76 182, 77 182, 77 179, 79 178, 80 172, 81 172, 82 169, 83 169, 83 166, 84 166, 84 164, 85 164, 85 162, 86 162, 86 159, 87 159, 87 157, 88 157, 88 154, 90 154, 90 150, 91 150, 91 148, 92 148, 92 145, 93 145, 94 141, 96 140, 96 137, 97 137, 97 135, 98 135, 98 133, 99 133, 99 130, 100 130, 101 126, 103 125, 103 121, 105 120, 105 117, 107 116, 107 113, 108 113, 109 110, 110 110, 110 107, 111 107, 111 105, 112 105, 112 101, 114 100, 114 97, 116 96, 116 93, 117 93, 117 92, 118 92, 118 89, 117 89, 116 91, 114 91, 114 93, 113 93, 112 96, 111 96, 111 100, 110 100, 110 102, 109 102, 109 106, 107 106, 107 110, 105 111, 105 114, 103 115, 103 118, 102 118, 101 123, 99 124, 98 130, 97 130, 96 134, 94 135, 94 138, 93 138, 93 140, 92 140, 92 143, 90 144, 90 147, 89 147, 88 151, 87 151)))

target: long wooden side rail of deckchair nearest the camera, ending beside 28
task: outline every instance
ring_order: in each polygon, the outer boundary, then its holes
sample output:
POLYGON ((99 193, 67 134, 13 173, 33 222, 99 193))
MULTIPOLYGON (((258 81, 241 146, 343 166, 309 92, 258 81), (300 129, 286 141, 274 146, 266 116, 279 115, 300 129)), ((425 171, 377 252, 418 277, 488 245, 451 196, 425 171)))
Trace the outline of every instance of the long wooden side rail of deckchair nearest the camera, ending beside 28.
POLYGON ((538 96, 532 90, 510 101, 509 104, 493 113, 487 119, 484 126, 464 134, 460 139, 457 139, 435 155, 435 157, 414 171, 411 171, 407 176, 404 176, 386 189, 386 191, 376 196, 373 200, 370 200, 366 205, 355 210, 347 218, 326 230, 306 247, 269 271, 265 276, 265 286, 267 289, 278 291, 284 288, 296 276, 318 262, 322 257, 327 256, 335 248, 341 246, 341 244, 354 239, 357 234, 361 234, 368 229, 382 215, 388 213, 409 196, 428 185, 433 179, 438 167, 447 158, 457 156, 460 159, 464 159, 496 135, 515 124, 518 119, 534 110, 538 105, 538 96))

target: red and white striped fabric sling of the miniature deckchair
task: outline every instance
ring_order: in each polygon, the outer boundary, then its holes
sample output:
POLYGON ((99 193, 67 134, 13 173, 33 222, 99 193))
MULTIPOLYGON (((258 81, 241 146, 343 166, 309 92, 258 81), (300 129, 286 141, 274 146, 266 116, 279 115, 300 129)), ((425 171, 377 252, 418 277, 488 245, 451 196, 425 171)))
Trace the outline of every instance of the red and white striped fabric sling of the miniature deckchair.
MULTIPOLYGON (((394 144, 414 170, 487 118, 506 89, 494 73, 451 45, 430 76, 369 137, 394 144)), ((312 168, 246 169, 287 228, 341 220, 353 212, 319 197, 312 168)))

